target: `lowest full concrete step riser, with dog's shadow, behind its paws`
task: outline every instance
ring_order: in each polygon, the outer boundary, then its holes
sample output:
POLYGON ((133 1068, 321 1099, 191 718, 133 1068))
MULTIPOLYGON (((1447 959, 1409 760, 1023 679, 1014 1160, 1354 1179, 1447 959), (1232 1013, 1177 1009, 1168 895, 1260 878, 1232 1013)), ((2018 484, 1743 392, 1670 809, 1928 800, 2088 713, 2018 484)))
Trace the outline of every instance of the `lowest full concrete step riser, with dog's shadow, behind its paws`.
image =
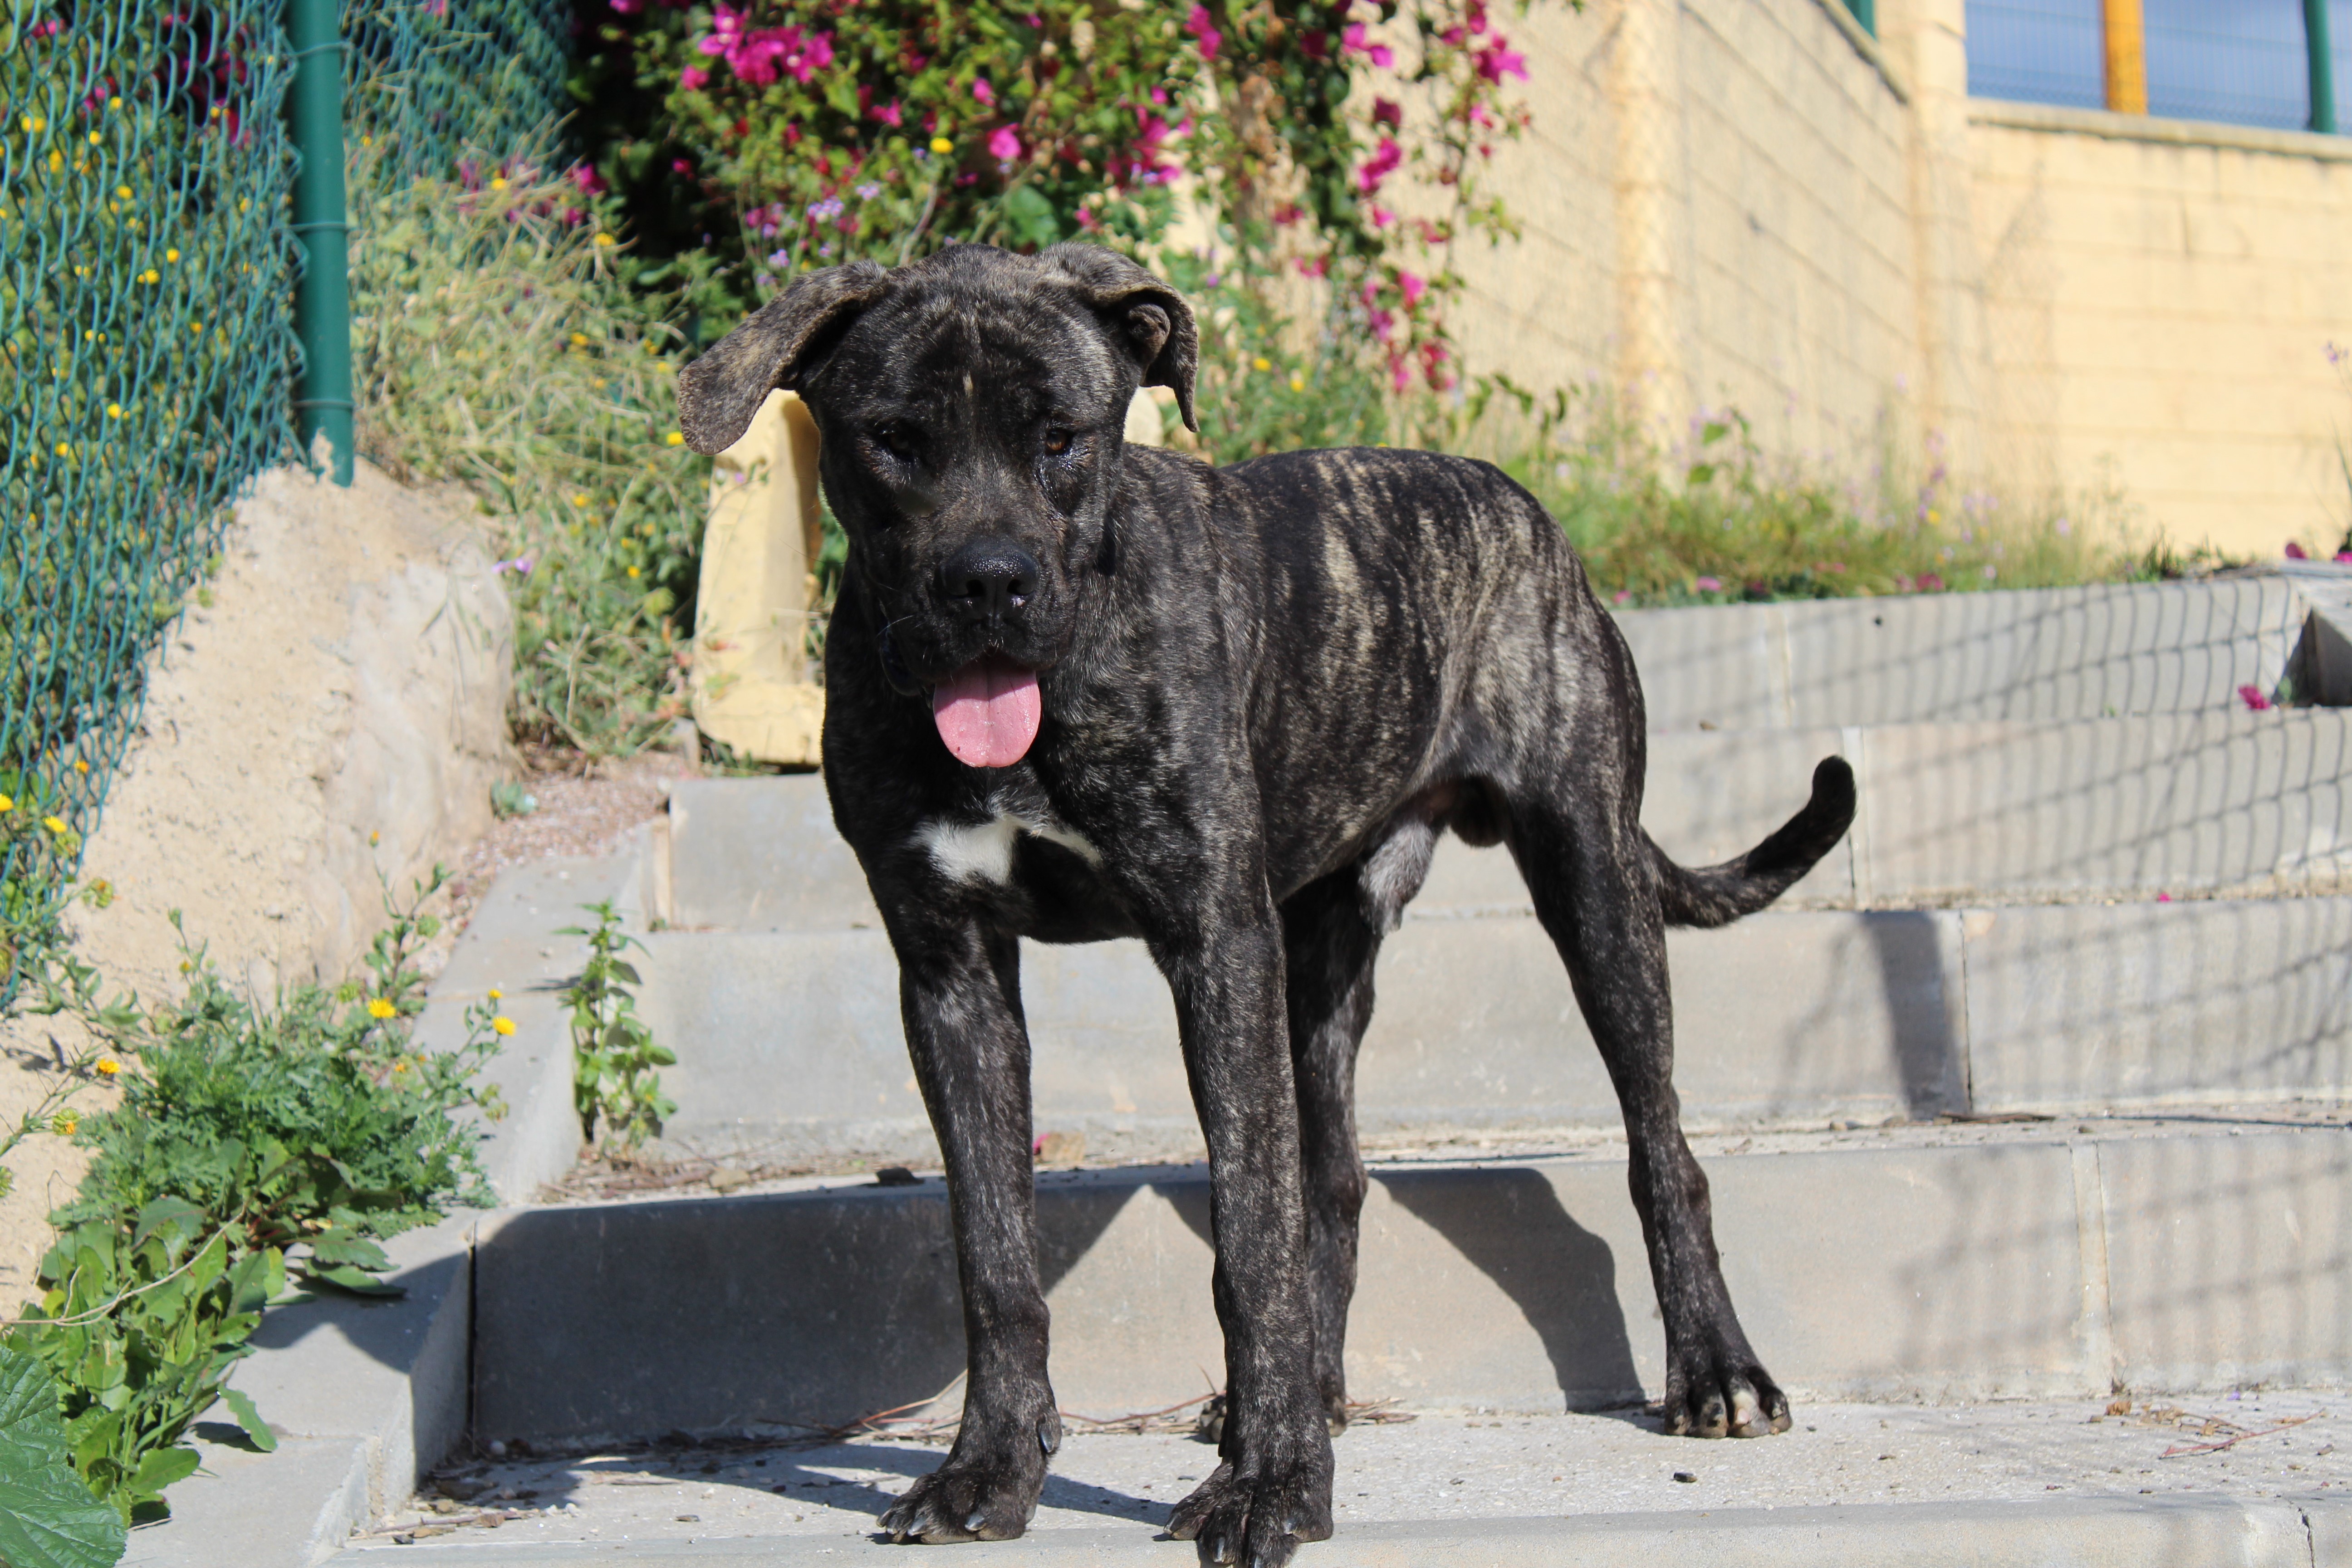
MULTIPOLYGON (((1766 1366, 1799 1399, 1870 1401, 2352 1375, 2352 1133, 2086 1128, 1700 1143, 1766 1366)), ((1204 1171, 1049 1173, 1037 1222, 1061 1403, 1200 1394, 1223 1363, 1204 1171)), ((473 1291, 482 1439, 835 1425, 929 1401, 964 1363, 936 1178, 508 1211, 473 1291)), ((1374 1166, 1357 1399, 1604 1408, 1656 1396, 1661 1349, 1621 1147, 1374 1166)))

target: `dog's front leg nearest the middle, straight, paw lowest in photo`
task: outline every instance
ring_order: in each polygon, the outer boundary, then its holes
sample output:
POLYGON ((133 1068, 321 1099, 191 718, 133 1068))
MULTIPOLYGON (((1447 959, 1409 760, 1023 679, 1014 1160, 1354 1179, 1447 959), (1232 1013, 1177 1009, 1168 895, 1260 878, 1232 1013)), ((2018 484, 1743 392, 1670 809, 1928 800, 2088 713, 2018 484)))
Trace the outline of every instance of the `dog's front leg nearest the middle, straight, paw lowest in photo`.
POLYGON ((1279 1568, 1331 1535, 1331 1432, 1315 1394, 1298 1110, 1282 1001, 1282 926, 1254 889, 1214 900, 1155 952, 1176 994, 1209 1140, 1216 1316, 1225 1331, 1223 1460, 1169 1516, 1204 1563, 1279 1568))

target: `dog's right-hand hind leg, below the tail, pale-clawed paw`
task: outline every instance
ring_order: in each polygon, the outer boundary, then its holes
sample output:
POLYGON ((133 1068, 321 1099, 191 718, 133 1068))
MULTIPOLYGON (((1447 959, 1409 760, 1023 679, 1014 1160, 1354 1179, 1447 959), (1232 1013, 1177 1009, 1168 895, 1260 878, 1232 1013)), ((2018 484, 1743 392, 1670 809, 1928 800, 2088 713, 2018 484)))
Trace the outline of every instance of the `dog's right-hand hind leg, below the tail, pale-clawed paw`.
POLYGON ((1788 1396, 1748 1347, 1715 1255, 1708 1178, 1682 1138, 1665 919, 1628 769, 1583 769, 1510 799, 1510 849, 1559 947, 1618 1091, 1632 1201, 1665 1316, 1665 1429, 1691 1436, 1788 1432, 1788 1396))

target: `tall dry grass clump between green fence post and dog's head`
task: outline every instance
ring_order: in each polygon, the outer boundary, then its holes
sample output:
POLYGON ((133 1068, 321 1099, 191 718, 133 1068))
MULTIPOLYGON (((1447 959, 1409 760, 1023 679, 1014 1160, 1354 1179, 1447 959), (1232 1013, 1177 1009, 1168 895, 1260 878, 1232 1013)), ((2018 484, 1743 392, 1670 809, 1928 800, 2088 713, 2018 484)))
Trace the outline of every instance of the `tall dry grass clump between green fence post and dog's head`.
POLYGON ((353 237, 360 449, 466 484, 515 607, 515 729, 588 755, 663 741, 710 461, 675 433, 675 299, 633 289, 609 202, 515 155, 367 172, 353 237))

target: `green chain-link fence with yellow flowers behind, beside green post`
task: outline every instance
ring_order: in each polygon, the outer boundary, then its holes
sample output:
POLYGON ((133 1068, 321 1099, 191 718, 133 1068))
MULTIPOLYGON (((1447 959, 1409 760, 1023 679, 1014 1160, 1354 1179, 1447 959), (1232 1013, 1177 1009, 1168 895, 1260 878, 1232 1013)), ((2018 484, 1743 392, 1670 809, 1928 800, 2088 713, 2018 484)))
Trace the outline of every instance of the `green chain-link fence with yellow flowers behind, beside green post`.
MULTIPOLYGON (((555 0, 346 14, 386 176, 562 113, 555 0)), ((71 879, 148 649, 292 461, 282 0, 0 0, 0 1001, 71 879)))

